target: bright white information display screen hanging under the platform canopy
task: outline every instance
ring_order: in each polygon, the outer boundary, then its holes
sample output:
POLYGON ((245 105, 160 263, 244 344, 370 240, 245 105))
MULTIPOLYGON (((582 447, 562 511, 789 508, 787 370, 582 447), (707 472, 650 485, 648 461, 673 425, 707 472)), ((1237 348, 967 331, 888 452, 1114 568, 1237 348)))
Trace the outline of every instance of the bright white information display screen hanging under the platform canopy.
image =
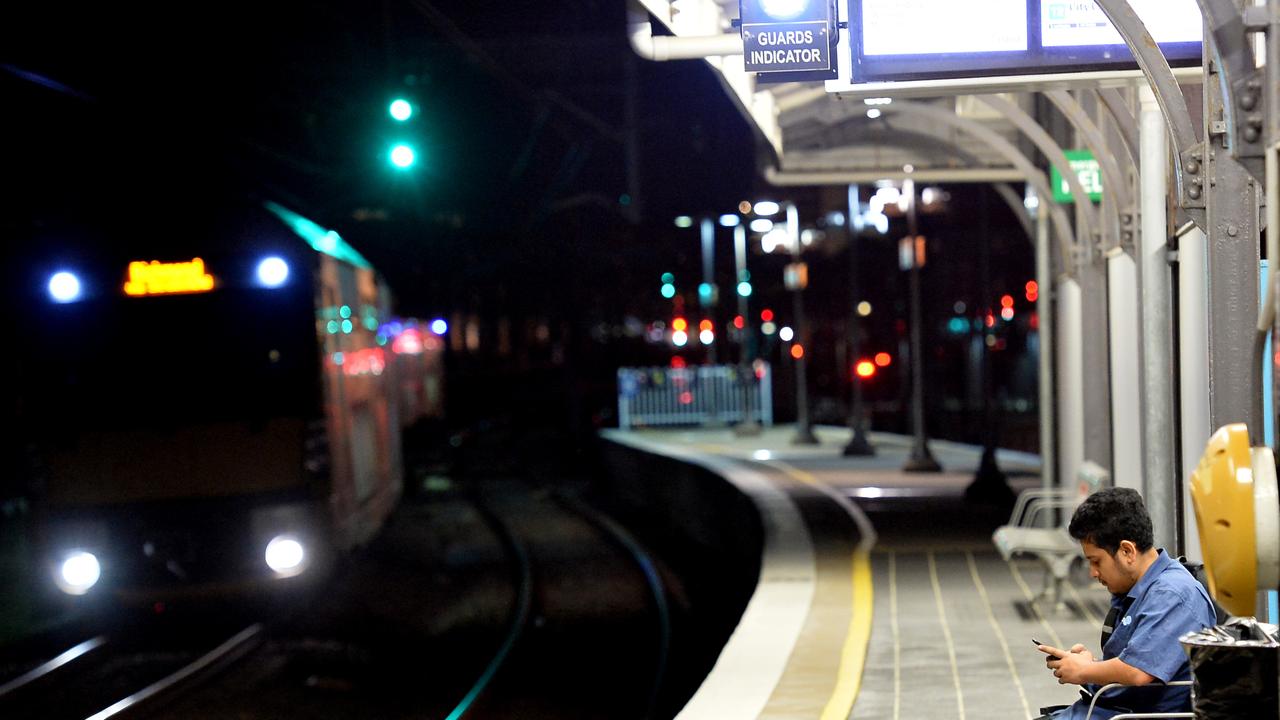
MULTIPOLYGON (((1197 65, 1196 0, 1130 0, 1172 65, 1197 65)), ((1135 69, 1093 0, 849 0, 854 82, 1135 69)))

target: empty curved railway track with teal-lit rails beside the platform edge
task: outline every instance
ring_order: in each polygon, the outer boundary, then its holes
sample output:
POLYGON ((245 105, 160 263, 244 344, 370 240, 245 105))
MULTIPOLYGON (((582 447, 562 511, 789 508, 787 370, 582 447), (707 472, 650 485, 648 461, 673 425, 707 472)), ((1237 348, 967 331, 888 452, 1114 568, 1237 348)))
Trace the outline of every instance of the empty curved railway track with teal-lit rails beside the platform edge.
POLYGON ((507 638, 448 720, 657 716, 672 628, 645 548, 567 495, 480 505, 513 559, 515 601, 507 638))

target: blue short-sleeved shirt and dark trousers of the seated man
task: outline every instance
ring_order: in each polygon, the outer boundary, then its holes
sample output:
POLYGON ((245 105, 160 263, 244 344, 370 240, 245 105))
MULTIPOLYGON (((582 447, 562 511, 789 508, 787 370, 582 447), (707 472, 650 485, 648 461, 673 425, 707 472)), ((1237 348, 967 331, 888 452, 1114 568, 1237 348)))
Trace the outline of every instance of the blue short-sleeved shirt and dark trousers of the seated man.
MULTIPOLYGON (((1160 551, 1156 562, 1124 596, 1112 596, 1111 606, 1120 610, 1115 632, 1102 648, 1102 660, 1119 657, 1160 683, 1189 680, 1190 664, 1178 638, 1185 633, 1212 626, 1217 618, 1213 603, 1185 568, 1160 551), (1125 606, 1128 605, 1128 610, 1125 606)), ((1088 685, 1093 693, 1098 685, 1088 685)), ((1120 712, 1187 712, 1190 710, 1190 688, 1140 687, 1107 692, 1098 700, 1092 720, 1120 712)), ((1089 702, 1080 700, 1065 714, 1071 720, 1084 720, 1089 702)))

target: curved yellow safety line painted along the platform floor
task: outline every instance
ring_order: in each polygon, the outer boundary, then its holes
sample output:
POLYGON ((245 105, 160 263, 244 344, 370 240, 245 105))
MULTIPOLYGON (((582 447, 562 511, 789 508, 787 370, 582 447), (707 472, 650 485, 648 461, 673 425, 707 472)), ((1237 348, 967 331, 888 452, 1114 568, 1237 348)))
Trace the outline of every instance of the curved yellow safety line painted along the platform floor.
POLYGON ((867 648, 872 639, 872 614, 873 614, 873 583, 872 583, 872 544, 876 542, 876 532, 861 509, 854 505, 847 497, 827 487, 812 473, 787 465, 786 462, 771 461, 769 465, 782 470, 791 478, 822 492, 845 507, 859 525, 861 538, 854 550, 854 597, 852 615, 849 619, 849 633, 845 635, 845 644, 840 653, 840 670, 836 675, 836 689, 822 710, 820 720, 847 720, 854 711, 854 702, 858 692, 863 687, 863 670, 867 667, 867 648))

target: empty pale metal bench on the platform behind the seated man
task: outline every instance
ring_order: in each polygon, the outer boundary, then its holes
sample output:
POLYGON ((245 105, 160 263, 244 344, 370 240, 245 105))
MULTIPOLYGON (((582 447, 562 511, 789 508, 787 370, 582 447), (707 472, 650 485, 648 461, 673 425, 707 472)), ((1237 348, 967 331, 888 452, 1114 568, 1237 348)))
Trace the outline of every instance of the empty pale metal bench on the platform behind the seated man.
POLYGON ((1044 588, 1033 602, 1052 594, 1055 609, 1064 606, 1062 583, 1071 571, 1071 564, 1080 555, 1080 543, 1071 538, 1066 527, 1071 512, 1091 493, 1105 487, 1110 474, 1096 462, 1085 462, 1076 474, 1079 484, 1075 489, 1029 489, 1018 496, 1009 524, 1001 525, 992 534, 996 550, 1005 561, 1016 555, 1030 555, 1044 564, 1044 588), (1059 524, 1052 523, 1052 511, 1060 511, 1059 524))

